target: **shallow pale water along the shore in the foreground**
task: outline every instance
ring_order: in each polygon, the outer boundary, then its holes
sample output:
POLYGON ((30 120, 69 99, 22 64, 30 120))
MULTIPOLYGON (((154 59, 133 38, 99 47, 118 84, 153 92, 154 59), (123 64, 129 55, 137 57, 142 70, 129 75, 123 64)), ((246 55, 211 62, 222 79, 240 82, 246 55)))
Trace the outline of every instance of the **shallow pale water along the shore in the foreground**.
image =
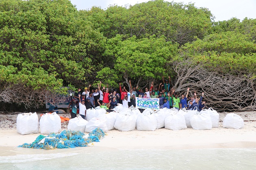
POLYGON ((53 151, 17 148, 15 152, 17 155, 0 156, 1 170, 256 169, 256 149, 121 150, 86 147, 53 151))

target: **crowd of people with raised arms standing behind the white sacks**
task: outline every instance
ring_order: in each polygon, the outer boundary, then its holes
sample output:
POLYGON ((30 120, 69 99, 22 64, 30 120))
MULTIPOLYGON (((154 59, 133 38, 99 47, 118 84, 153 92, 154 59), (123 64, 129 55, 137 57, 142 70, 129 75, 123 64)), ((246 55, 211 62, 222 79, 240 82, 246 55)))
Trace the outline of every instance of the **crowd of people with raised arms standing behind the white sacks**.
MULTIPOLYGON (((121 87, 121 83, 119 83, 119 91, 117 89, 110 89, 108 87, 102 87, 102 82, 98 83, 98 88, 92 88, 91 85, 89 87, 85 87, 85 91, 81 93, 81 89, 78 89, 78 93, 71 96, 71 102, 68 106, 70 108, 71 117, 76 117, 76 114, 79 114, 85 119, 86 110, 89 108, 95 108, 100 106, 107 110, 107 112, 113 111, 118 103, 123 104, 124 107, 128 108, 130 106, 136 106, 136 97, 139 98, 159 98, 160 108, 176 108, 180 110, 181 108, 185 108, 187 110, 197 109, 201 111, 206 108, 206 101, 202 101, 204 93, 202 93, 202 97, 197 98, 197 94, 194 93, 194 96, 188 96, 189 88, 187 88, 187 94, 181 95, 181 98, 178 98, 178 94, 175 92, 175 89, 170 89, 171 78, 160 83, 159 87, 155 87, 153 89, 153 82, 151 83, 150 89, 145 88, 145 92, 143 89, 138 89, 138 87, 132 87, 131 81, 129 91, 125 88, 125 86, 121 87), (170 91, 169 91, 170 89, 170 91), (120 94, 119 94, 120 93, 120 94)), ((141 109, 140 109, 141 110, 141 109)), ((141 110, 143 111, 143 110, 141 110)))

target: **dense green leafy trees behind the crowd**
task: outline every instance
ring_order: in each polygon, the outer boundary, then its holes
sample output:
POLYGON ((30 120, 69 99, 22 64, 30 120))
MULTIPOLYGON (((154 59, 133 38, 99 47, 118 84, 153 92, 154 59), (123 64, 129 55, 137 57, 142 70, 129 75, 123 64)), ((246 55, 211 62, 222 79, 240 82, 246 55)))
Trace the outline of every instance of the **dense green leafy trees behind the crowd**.
MULTIPOLYGON (((182 92, 186 87, 176 82, 176 66, 184 61, 221 77, 245 77, 247 92, 254 94, 245 102, 256 109, 256 19, 213 19, 207 8, 163 0, 82 11, 69 0, 1 0, 2 111, 39 107, 52 101, 52 94, 65 94, 61 87, 99 81, 130 87, 131 80, 145 87, 171 76, 182 92)), ((184 80, 188 86, 191 79, 184 80)), ((202 87, 193 90, 207 94, 202 87)))

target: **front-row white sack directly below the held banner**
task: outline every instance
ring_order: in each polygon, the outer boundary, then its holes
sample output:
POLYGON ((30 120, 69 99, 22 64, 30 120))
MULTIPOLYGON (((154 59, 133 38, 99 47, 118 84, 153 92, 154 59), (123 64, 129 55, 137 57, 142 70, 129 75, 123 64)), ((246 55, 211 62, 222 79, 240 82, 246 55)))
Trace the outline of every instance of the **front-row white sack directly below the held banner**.
POLYGON ((154 115, 143 115, 140 114, 137 117, 136 121, 137 130, 156 130, 157 121, 154 115))

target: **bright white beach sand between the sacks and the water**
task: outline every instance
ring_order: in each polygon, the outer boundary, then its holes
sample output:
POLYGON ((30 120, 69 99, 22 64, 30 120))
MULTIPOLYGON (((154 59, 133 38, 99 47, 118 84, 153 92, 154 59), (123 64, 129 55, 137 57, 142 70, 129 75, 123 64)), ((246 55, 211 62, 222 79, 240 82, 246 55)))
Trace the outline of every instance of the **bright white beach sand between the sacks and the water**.
MULTIPOLYGON (((110 147, 117 149, 197 149, 197 148, 256 148, 256 111, 236 113, 245 121, 242 129, 222 127, 222 120, 228 113, 220 113, 218 128, 212 130, 168 130, 161 128, 155 131, 108 131, 94 147, 110 147)), ((65 115, 69 116, 69 115, 65 115)), ((0 115, 0 121, 6 119, 15 122, 17 115, 0 115)), ((65 123, 66 125, 67 123, 65 123)), ((0 123, 1 125, 1 123, 0 123)), ((66 127, 63 125, 63 127, 66 127)), ((0 126, 0 151, 8 155, 8 151, 20 144, 31 143, 39 134, 18 134, 15 125, 11 129, 0 126)), ((64 129, 63 129, 64 130, 64 129)))

